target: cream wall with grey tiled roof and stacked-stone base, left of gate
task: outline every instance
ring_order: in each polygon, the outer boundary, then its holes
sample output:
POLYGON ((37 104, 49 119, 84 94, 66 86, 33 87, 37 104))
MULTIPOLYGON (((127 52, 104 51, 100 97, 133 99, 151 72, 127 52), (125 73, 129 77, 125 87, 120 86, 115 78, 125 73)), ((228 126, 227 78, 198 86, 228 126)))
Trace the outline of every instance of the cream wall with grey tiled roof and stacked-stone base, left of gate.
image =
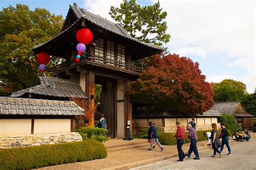
POLYGON ((73 101, 0 97, 0 148, 81 141, 73 130, 83 111, 73 101))

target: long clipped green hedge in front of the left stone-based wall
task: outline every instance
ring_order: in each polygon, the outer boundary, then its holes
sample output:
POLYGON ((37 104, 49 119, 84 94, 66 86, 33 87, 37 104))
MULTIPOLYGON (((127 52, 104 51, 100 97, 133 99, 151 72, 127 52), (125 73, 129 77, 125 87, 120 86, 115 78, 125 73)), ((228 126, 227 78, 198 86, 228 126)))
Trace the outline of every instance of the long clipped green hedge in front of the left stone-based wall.
POLYGON ((0 169, 31 169, 106 156, 105 146, 96 140, 0 149, 0 169))

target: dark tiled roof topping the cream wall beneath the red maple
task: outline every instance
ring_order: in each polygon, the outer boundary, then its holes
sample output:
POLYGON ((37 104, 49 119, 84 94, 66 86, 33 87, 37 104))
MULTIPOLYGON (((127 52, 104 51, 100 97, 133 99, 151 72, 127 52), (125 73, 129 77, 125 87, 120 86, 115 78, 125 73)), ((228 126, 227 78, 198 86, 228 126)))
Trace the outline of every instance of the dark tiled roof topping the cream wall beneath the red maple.
POLYGON ((143 109, 132 111, 133 118, 190 118, 190 117, 220 117, 220 112, 215 110, 208 110, 203 112, 203 114, 199 113, 180 113, 174 112, 170 109, 143 109))

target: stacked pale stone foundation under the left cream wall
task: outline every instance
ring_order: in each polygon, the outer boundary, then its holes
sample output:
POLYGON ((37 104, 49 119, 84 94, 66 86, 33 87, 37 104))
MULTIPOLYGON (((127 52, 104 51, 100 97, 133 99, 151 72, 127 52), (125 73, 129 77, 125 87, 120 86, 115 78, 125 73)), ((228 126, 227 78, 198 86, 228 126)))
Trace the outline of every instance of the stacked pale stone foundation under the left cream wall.
POLYGON ((78 132, 10 135, 6 138, 0 138, 0 148, 51 145, 74 141, 82 141, 78 132))

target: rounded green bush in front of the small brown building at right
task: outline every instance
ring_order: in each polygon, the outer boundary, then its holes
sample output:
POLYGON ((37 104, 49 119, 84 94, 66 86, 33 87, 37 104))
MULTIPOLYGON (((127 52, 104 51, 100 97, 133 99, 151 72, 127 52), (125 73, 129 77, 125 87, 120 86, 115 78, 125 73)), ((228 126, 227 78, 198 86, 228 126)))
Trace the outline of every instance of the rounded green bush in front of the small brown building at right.
POLYGON ((235 118, 231 114, 221 114, 220 116, 220 123, 224 123, 225 127, 230 130, 232 133, 241 130, 241 127, 237 123, 237 118, 235 118))

